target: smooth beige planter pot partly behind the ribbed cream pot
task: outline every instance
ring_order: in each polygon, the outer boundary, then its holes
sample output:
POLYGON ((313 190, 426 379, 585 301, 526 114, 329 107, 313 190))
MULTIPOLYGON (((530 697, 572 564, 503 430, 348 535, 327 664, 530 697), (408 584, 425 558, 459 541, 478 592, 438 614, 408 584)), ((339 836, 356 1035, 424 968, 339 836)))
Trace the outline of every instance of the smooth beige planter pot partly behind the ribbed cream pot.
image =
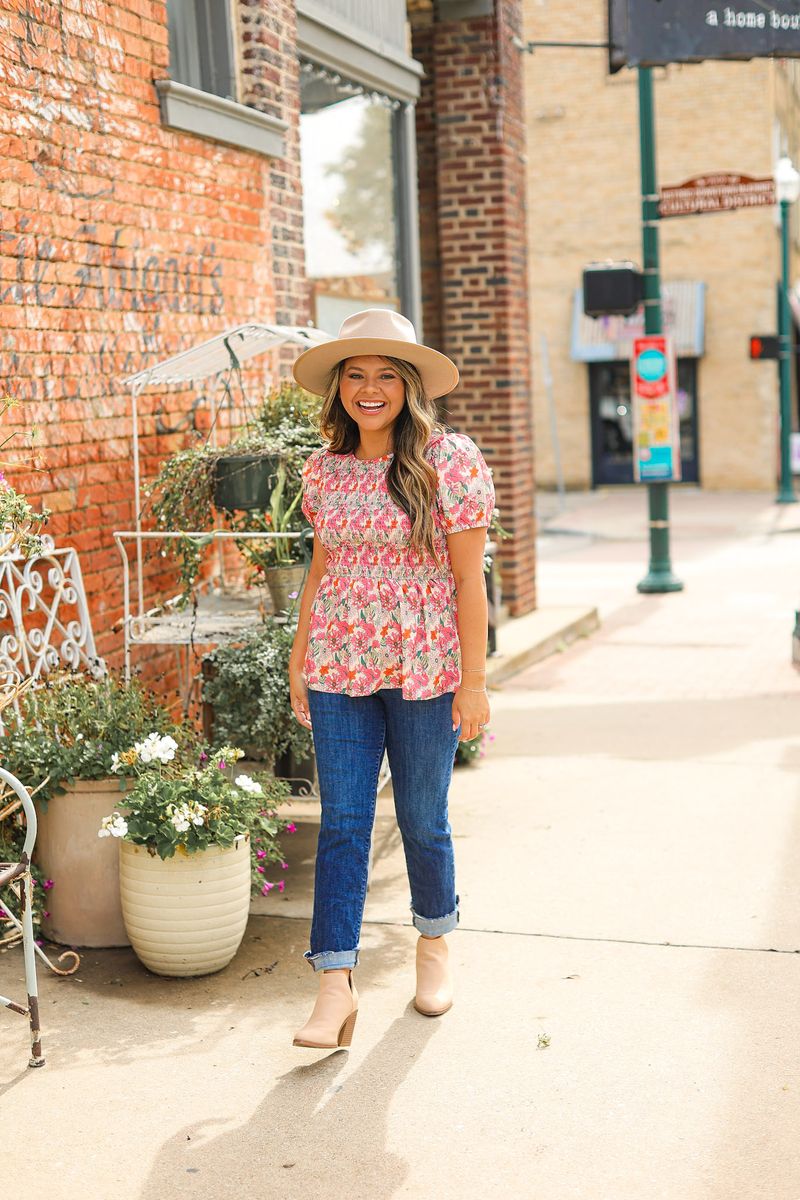
POLYGON ((98 838, 104 816, 124 808, 119 779, 79 780, 47 809, 36 805, 35 859, 46 878, 46 937, 64 946, 130 946, 120 906, 119 851, 98 838))

